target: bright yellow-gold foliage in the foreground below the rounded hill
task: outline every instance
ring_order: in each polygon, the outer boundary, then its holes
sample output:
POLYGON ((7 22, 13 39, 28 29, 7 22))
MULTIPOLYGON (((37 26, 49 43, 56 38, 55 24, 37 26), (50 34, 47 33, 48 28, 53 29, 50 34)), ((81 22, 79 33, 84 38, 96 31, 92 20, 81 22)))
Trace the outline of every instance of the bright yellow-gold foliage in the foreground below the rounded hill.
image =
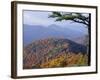
POLYGON ((67 53, 62 54, 48 62, 42 63, 41 68, 67 67, 67 66, 86 66, 88 65, 88 56, 85 54, 67 53))

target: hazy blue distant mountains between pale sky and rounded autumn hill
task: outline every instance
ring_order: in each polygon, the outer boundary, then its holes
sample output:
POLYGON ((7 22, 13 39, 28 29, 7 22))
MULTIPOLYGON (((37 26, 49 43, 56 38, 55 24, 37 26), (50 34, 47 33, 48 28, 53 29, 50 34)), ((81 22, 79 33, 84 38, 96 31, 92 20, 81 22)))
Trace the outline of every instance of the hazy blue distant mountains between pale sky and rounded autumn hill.
POLYGON ((24 46, 33 41, 46 38, 66 38, 72 41, 80 38, 79 43, 81 44, 85 38, 85 34, 82 32, 70 29, 68 27, 63 28, 55 24, 49 26, 24 24, 23 35, 24 46))

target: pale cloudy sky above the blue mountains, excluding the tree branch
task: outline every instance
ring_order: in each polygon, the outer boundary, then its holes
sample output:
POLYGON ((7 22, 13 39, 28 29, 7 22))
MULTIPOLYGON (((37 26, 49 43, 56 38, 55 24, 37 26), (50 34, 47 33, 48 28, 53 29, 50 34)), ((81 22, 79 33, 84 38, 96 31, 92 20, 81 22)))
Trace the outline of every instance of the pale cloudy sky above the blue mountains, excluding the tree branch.
MULTIPOLYGON (((56 24, 60 27, 68 27, 70 29, 78 30, 80 32, 85 32, 87 34, 87 28, 84 24, 79 24, 71 21, 55 21, 55 18, 48 18, 48 16, 52 14, 52 12, 46 11, 23 11, 23 24, 27 25, 42 25, 44 27, 48 27, 49 25, 56 24)), ((88 14, 84 14, 88 15, 88 14)))

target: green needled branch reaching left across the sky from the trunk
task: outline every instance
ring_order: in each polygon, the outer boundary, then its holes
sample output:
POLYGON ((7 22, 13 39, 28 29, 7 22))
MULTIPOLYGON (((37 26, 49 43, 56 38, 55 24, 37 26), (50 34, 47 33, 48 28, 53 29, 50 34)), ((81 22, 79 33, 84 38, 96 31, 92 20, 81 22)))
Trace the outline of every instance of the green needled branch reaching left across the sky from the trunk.
POLYGON ((55 18, 55 21, 71 20, 86 26, 89 25, 89 16, 84 16, 81 13, 52 12, 52 14, 49 15, 49 18, 55 18))

